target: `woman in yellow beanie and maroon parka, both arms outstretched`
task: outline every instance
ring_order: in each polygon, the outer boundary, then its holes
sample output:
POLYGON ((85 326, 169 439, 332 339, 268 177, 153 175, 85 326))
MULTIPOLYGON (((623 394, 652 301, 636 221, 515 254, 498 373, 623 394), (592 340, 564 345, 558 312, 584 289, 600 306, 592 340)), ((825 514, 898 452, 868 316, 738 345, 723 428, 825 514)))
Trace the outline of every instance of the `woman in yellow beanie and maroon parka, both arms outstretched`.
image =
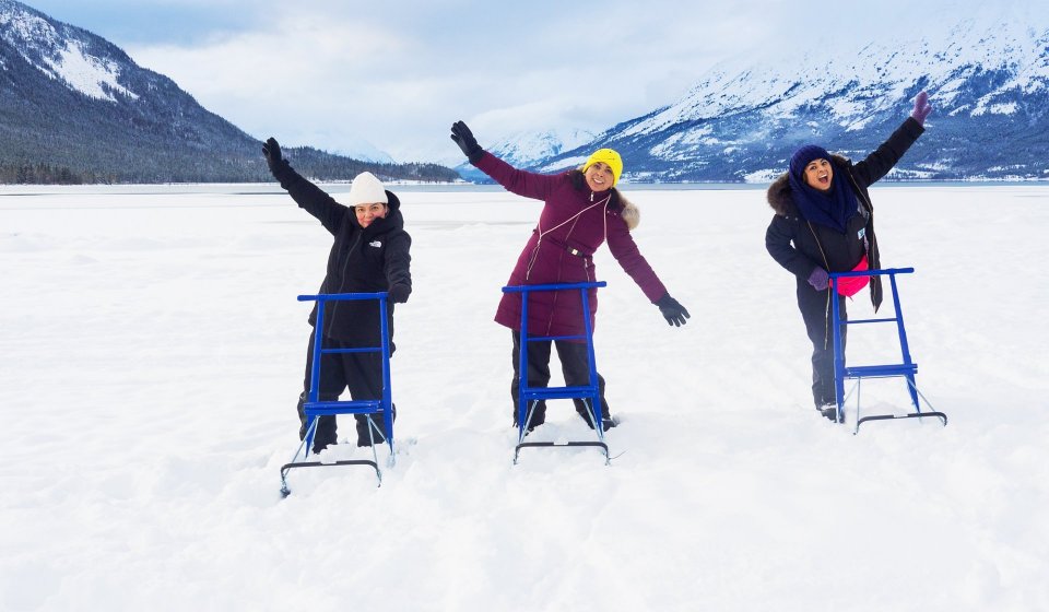
MULTIPOLYGON (((451 127, 451 139, 470 158, 470 163, 495 179, 509 191, 543 200, 545 205, 539 224, 524 245, 507 285, 540 285, 550 283, 578 283, 597 280, 593 252, 608 242, 609 250, 620 266, 645 295, 659 306, 669 325, 682 326, 688 311, 670 296, 656 272, 648 264, 630 229, 637 225, 637 208, 616 190, 615 184, 623 172, 618 153, 600 149, 579 169, 556 175, 543 175, 519 170, 481 149, 470 128, 462 121, 451 127)), ((598 309, 597 290, 590 290, 590 323, 594 322, 598 309)), ((584 333, 582 301, 576 292, 535 292, 528 299, 529 336, 580 336, 584 333)), ((514 399, 514 425, 517 426, 518 386, 520 372, 521 295, 505 293, 495 314, 496 322, 512 330, 514 381, 510 395, 514 399)), ((561 358, 565 384, 587 385, 590 367, 586 344, 557 340, 557 356, 561 358)), ((550 342, 532 342, 528 349, 528 381, 533 387, 545 387, 550 381, 550 342)), ((601 392, 602 428, 615 426, 604 400, 604 378, 598 376, 601 392)), ((582 400, 573 400, 576 412, 593 427, 593 417, 582 400)), ((539 402, 527 423, 528 431, 546 420, 546 405, 539 402)))

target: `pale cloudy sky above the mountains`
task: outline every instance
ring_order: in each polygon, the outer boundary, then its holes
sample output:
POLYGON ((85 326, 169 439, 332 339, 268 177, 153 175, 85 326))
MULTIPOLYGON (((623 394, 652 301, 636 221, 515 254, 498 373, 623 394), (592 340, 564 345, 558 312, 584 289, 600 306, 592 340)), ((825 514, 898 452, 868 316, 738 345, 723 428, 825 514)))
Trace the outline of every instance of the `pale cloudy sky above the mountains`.
MULTIPOLYGON (((249 134, 398 161, 600 131, 674 102, 719 61, 892 39, 1001 0, 30 0, 172 78, 249 134)), ((1045 0, 1006 0, 1049 12, 1045 0)), ((997 9, 995 9, 997 10, 997 9)))

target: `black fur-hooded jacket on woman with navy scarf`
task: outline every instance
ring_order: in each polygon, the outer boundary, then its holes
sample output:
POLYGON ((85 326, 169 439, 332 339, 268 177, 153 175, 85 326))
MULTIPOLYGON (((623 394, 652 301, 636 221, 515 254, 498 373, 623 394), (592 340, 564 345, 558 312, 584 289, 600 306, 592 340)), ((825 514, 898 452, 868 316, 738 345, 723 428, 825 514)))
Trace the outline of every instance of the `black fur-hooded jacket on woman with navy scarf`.
MULTIPOLYGON (((790 181, 783 174, 768 188, 768 204, 776 211, 765 232, 765 248, 780 266, 798 279, 799 289, 808 286, 816 267, 828 272, 848 272, 868 254, 871 269, 881 268, 877 238, 874 235, 874 208, 867 188, 885 176, 924 131, 918 121, 907 118, 888 140, 862 162, 833 155, 834 180, 848 180, 856 193, 860 214, 849 220, 846 232, 811 223, 803 219, 791 197, 790 181), (864 239, 867 243, 864 244, 864 239), (870 245, 868 251, 867 245, 870 245)), ((882 304, 880 276, 871 276, 871 303, 882 304)))

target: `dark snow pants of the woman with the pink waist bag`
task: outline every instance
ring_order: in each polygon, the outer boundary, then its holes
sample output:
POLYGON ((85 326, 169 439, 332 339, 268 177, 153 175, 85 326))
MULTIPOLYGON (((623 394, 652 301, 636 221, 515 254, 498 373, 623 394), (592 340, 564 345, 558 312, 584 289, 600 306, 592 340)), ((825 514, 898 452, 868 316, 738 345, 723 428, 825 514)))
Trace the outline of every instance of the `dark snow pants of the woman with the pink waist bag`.
MULTIPOLYGON (((837 295, 841 319, 848 320, 845 297, 837 295)), ((812 399, 816 408, 836 405, 834 391, 834 330, 832 329, 830 290, 816 291, 809 283, 798 283, 798 308, 805 320, 805 331, 812 341, 812 399)), ((841 328, 841 350, 846 331, 841 328)))

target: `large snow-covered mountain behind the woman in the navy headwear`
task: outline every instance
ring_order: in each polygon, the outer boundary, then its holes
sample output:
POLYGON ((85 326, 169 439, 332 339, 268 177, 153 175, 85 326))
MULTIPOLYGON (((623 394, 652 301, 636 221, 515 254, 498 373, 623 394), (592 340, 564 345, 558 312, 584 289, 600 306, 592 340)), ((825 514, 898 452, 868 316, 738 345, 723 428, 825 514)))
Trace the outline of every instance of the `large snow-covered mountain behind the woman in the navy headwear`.
POLYGON ((969 19, 941 35, 789 64, 726 62, 673 104, 528 166, 570 167, 612 146, 634 181, 766 181, 806 142, 861 158, 927 90, 929 132, 892 178, 1049 178, 1049 28, 1027 23, 969 19))

